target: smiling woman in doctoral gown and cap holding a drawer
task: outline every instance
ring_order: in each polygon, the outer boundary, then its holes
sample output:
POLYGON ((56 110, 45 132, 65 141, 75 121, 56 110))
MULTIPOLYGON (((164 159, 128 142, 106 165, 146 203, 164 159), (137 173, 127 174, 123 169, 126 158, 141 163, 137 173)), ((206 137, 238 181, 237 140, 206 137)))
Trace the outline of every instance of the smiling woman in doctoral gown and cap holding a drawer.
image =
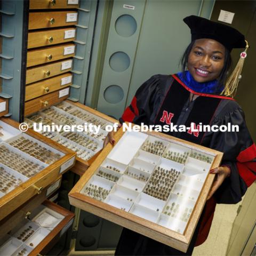
MULTIPOLYGON (((235 93, 238 74, 225 84, 230 51, 246 47, 244 36, 234 28, 194 15, 186 17, 192 41, 182 58, 183 71, 177 75, 155 75, 143 83, 126 108, 122 122, 239 126, 239 132, 169 132, 224 153, 221 166, 207 197, 187 253, 124 229, 116 255, 191 255, 209 233, 216 203, 237 203, 256 179, 256 147, 247 130, 244 113, 229 96, 235 93), (187 71, 185 71, 187 69, 187 71), (220 95, 225 94, 225 95, 220 95), (228 97, 227 97, 228 96, 228 97)), ((240 61, 241 62, 241 61, 240 61)), ((239 69, 238 69, 239 70, 239 69)), ((109 134, 111 142, 113 134, 109 134)))

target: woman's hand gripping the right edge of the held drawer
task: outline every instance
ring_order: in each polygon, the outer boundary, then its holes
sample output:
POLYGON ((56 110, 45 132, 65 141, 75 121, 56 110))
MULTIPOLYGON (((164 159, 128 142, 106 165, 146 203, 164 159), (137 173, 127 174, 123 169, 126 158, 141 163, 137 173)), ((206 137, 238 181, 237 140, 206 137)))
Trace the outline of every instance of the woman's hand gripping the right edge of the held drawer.
POLYGON ((230 169, 227 166, 220 166, 210 171, 210 173, 216 173, 215 179, 213 181, 212 188, 209 192, 209 195, 207 197, 207 200, 212 197, 212 195, 215 193, 215 191, 220 187, 222 182, 230 176, 230 169))

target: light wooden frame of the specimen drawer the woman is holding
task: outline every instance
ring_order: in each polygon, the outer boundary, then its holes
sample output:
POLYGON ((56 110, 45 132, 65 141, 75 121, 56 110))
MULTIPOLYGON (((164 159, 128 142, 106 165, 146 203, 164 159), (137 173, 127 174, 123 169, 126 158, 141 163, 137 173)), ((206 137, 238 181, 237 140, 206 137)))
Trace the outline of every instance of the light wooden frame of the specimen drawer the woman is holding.
MULTIPOLYGON (((159 135, 157 132, 147 133, 154 135, 158 138, 164 138, 170 142, 181 142, 183 145, 191 146, 191 148, 200 149, 205 153, 209 153, 214 157, 214 160, 211 165, 211 169, 219 166, 222 158, 222 153, 219 151, 205 148, 203 146, 196 145, 195 143, 187 142, 166 134, 159 135)), ((119 129, 115 134, 116 142, 122 138, 123 131, 119 129)), ((129 212, 125 212, 123 210, 119 210, 116 207, 108 205, 106 203, 95 200, 91 197, 85 196, 80 193, 82 188, 85 186, 87 181, 90 180, 95 170, 101 165, 101 163, 105 160, 110 150, 113 148, 110 143, 102 150, 101 154, 98 158, 92 163, 86 173, 81 177, 81 179, 77 182, 75 187, 69 193, 69 201, 71 205, 74 205, 84 211, 91 212, 95 215, 98 215, 101 218, 107 219, 114 223, 117 223, 120 226, 129 228, 137 233, 153 238, 161 243, 172 246, 180 251, 186 252, 189 246, 190 240, 194 234, 194 230, 196 228, 199 217, 202 213, 204 204, 206 202, 207 194, 210 191, 214 180, 214 174, 208 174, 207 178, 204 182, 203 188, 197 202, 194 206, 194 210, 191 213, 191 217, 189 219, 187 228, 185 229, 183 234, 179 234, 169 228, 165 228, 160 226, 154 222, 148 221, 146 219, 137 217, 134 214, 129 212)))

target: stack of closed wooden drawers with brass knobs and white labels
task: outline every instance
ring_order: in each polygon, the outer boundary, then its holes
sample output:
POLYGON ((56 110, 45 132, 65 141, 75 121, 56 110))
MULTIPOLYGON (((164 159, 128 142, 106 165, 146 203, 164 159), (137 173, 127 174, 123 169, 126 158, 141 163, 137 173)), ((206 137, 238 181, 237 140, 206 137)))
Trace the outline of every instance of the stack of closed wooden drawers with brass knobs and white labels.
POLYGON ((25 116, 69 96, 78 7, 78 0, 29 1, 25 116))

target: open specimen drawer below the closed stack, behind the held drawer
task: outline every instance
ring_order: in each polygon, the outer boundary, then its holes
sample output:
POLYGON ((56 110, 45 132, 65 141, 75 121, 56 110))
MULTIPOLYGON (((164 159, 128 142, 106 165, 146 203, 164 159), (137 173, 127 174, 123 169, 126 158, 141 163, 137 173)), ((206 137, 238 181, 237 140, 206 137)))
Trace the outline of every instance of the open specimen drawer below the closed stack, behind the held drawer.
POLYGON ((44 124, 93 124, 100 125, 100 130, 96 134, 93 132, 80 132, 77 137, 74 137, 72 133, 52 133, 42 132, 48 138, 58 142, 62 146, 73 150, 77 153, 76 164, 71 169, 78 175, 82 175, 87 168, 91 165, 94 159, 99 154, 99 151, 103 147, 103 141, 106 138, 108 132, 105 130, 106 125, 113 125, 118 121, 107 115, 100 113, 90 107, 87 107, 81 103, 65 100, 55 106, 47 108, 43 111, 39 111, 33 115, 25 118, 25 123, 28 123, 32 128, 34 123, 44 124), (72 136, 73 135, 73 136, 72 136), (77 139, 81 140, 78 142, 77 139), (84 140, 89 140, 94 148, 89 148, 85 145, 84 140))

